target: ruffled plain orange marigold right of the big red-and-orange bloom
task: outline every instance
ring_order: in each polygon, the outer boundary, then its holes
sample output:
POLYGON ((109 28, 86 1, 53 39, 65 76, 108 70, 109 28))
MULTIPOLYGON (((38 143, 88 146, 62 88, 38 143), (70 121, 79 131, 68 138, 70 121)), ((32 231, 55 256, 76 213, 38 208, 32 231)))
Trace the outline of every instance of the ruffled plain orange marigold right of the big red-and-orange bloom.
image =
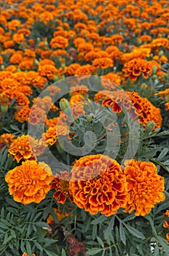
POLYGON ((124 212, 146 215, 156 203, 165 200, 165 179, 157 174, 157 167, 152 162, 132 160, 124 173, 127 178, 129 199, 124 212))

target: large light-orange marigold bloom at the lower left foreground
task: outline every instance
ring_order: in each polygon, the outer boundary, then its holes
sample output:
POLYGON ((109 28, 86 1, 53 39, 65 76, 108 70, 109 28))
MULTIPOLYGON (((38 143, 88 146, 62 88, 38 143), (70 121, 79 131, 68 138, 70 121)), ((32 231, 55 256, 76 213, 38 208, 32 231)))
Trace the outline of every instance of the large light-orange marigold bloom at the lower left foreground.
POLYGON ((22 165, 9 170, 5 181, 8 183, 9 194, 13 199, 24 205, 40 203, 50 191, 53 176, 47 173, 36 161, 22 162, 22 165))

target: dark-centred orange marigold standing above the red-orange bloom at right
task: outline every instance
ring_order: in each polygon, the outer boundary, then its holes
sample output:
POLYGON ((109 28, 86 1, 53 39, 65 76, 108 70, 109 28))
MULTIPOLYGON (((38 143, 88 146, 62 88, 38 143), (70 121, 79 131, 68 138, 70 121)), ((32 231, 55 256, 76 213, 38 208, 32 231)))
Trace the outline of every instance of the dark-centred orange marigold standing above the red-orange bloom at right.
POLYGON ((130 80, 135 81, 141 73, 144 78, 148 78, 148 75, 152 74, 152 66, 145 59, 135 58, 127 61, 122 71, 125 72, 126 78, 129 77, 130 80))

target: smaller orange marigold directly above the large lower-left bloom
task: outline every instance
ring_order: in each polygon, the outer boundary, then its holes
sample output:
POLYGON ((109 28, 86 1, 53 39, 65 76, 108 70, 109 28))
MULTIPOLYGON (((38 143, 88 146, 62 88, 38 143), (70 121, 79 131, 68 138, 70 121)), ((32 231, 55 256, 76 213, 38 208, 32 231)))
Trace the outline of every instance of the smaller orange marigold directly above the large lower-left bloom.
POLYGON ((9 146, 8 152, 20 162, 21 159, 35 160, 35 156, 42 154, 44 145, 29 135, 17 137, 9 146), (31 143, 31 144, 30 144, 31 143), (31 146, 34 146, 34 151, 31 146))

